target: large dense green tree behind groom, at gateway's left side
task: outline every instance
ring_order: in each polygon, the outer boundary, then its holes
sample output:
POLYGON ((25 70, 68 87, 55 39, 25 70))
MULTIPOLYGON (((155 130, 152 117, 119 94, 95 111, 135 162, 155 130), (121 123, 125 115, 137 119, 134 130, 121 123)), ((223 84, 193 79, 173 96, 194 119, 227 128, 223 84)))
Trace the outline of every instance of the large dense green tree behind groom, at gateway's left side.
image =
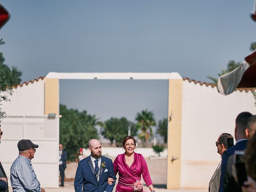
POLYGON ((60 114, 60 143, 67 151, 68 159, 73 160, 80 147, 88 147, 88 141, 92 138, 98 139, 96 126, 102 126, 102 122, 95 115, 87 114, 86 111, 67 109, 62 104, 60 114))

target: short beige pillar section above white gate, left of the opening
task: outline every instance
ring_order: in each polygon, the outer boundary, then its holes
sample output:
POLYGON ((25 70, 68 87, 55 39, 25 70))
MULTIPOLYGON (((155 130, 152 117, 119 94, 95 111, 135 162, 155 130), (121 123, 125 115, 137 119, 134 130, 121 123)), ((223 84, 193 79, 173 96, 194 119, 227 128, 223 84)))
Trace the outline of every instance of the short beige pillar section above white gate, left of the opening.
POLYGON ((59 79, 45 78, 44 80, 44 114, 59 115, 59 79))

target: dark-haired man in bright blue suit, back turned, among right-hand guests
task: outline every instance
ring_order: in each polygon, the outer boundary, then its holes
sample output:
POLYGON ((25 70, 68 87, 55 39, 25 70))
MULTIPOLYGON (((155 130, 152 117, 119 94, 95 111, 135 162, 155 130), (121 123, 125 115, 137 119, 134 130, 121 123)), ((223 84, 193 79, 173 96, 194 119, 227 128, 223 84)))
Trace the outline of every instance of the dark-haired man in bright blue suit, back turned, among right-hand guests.
POLYGON ((245 130, 247 128, 247 121, 252 116, 249 112, 242 112, 236 117, 236 126, 235 126, 235 138, 236 145, 230 147, 222 155, 222 164, 221 164, 221 176, 220 176, 220 190, 219 192, 224 192, 224 175, 226 172, 226 166, 229 156, 233 155, 236 150, 244 150, 246 148, 248 138, 246 136, 245 130))

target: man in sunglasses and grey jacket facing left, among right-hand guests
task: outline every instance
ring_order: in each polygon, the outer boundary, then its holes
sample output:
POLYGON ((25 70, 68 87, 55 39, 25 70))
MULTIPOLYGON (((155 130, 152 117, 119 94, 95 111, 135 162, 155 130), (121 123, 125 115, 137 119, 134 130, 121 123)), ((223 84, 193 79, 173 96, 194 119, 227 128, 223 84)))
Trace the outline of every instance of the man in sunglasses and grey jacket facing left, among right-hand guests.
MULTIPOLYGON (((217 152, 222 156, 224 151, 228 148, 228 138, 233 138, 231 134, 229 133, 222 133, 217 142, 215 142, 217 147, 217 152)), ((210 182, 209 182, 209 192, 218 192, 220 188, 220 169, 221 169, 221 161, 216 168, 210 182)))

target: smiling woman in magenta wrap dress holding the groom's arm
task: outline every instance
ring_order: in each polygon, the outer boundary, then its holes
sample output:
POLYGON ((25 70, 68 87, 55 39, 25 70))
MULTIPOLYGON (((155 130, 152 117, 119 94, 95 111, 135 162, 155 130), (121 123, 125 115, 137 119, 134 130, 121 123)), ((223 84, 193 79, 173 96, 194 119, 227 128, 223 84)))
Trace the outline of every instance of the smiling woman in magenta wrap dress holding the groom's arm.
MULTIPOLYGON (((146 161, 142 154, 134 152, 135 139, 132 136, 126 136, 122 145, 125 153, 118 155, 114 161, 115 174, 118 173, 119 175, 116 192, 134 192, 134 183, 137 180, 140 181, 141 175, 149 190, 154 192, 146 161)), ((109 181, 111 181, 111 178, 109 181)))

